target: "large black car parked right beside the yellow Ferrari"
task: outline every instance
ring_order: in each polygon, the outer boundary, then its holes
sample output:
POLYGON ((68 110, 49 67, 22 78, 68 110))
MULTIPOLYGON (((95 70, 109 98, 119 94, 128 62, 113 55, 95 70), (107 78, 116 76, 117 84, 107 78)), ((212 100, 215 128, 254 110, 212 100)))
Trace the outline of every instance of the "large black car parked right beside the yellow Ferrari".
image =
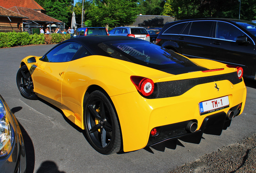
POLYGON ((157 44, 189 58, 242 66, 244 76, 256 80, 256 23, 222 18, 170 22, 157 44))

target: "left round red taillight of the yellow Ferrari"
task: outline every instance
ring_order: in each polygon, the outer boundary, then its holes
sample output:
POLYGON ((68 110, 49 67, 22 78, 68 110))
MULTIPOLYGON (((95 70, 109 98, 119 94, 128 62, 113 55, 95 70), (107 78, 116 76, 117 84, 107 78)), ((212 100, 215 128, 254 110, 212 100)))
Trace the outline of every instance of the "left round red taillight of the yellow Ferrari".
POLYGON ((153 93, 155 88, 153 80, 142 76, 131 76, 130 79, 141 95, 150 96, 153 93))

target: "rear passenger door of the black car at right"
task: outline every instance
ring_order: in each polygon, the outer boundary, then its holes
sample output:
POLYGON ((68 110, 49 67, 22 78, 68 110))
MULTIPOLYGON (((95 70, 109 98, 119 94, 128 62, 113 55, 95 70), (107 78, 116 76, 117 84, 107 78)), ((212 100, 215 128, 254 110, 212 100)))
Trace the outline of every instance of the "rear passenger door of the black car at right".
POLYGON ((187 24, 178 36, 178 47, 181 54, 190 58, 209 58, 213 21, 192 21, 187 24))

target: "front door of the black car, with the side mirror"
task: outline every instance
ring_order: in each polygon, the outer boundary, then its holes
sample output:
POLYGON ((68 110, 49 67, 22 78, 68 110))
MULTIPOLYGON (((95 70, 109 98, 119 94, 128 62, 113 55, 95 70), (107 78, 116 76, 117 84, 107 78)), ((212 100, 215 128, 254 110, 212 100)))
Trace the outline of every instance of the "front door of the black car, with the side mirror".
POLYGON ((213 35, 211 59, 241 66, 244 74, 251 74, 255 48, 253 40, 238 27, 222 21, 217 21, 213 35), (246 36, 248 43, 237 43, 239 36, 246 36))

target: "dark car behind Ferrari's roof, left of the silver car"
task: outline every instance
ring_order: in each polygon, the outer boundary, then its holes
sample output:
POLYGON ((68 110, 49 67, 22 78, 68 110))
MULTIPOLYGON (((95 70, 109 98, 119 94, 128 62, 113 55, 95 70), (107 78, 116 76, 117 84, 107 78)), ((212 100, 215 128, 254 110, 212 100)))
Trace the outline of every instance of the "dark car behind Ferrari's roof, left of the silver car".
POLYGON ((88 35, 108 35, 107 29, 103 27, 77 28, 71 38, 88 35))

